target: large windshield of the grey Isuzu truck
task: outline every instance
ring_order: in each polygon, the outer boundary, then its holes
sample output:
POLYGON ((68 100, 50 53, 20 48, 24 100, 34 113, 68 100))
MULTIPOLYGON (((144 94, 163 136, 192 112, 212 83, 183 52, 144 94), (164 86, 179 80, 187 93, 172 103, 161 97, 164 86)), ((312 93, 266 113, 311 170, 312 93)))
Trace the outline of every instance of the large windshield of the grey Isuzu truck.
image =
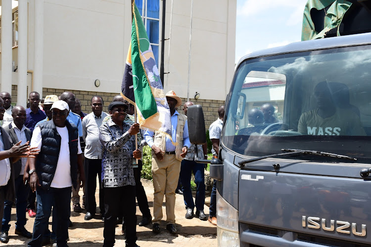
POLYGON ((302 149, 370 163, 370 68, 371 45, 244 61, 232 84, 223 144, 244 156, 302 149))

